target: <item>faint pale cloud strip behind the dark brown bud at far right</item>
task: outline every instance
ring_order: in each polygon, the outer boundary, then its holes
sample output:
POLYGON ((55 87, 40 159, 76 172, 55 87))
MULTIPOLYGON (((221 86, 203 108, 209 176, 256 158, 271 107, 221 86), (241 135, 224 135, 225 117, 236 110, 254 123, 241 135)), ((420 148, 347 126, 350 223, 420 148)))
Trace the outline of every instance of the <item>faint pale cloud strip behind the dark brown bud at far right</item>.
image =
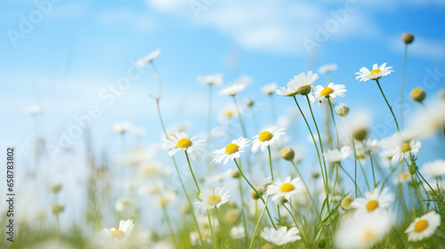
MULTIPOLYGON (((404 50, 404 44, 401 42, 400 36, 391 37, 388 46, 397 52, 403 52, 404 50)), ((415 36, 414 42, 409 44, 409 54, 433 60, 443 60, 445 59, 445 40, 432 40, 415 36)))

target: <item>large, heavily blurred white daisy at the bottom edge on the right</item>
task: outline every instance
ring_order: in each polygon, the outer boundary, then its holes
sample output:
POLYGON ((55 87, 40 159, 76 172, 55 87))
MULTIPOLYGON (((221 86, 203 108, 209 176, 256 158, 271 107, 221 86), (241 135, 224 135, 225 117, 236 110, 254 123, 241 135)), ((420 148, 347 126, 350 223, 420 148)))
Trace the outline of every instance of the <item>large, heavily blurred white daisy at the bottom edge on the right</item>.
POLYGON ((368 249, 376 245, 391 229, 387 213, 351 216, 336 232, 336 246, 343 249, 368 249))

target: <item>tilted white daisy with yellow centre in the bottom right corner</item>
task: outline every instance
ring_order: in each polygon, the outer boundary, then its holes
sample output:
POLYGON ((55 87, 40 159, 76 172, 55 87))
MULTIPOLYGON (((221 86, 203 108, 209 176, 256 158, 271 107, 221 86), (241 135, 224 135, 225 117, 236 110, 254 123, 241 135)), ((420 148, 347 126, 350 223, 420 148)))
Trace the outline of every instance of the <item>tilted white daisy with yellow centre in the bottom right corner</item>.
POLYGON ((432 211, 416 218, 405 230, 405 233, 407 233, 409 241, 419 241, 425 237, 431 237, 439 225, 441 225, 441 215, 432 211))

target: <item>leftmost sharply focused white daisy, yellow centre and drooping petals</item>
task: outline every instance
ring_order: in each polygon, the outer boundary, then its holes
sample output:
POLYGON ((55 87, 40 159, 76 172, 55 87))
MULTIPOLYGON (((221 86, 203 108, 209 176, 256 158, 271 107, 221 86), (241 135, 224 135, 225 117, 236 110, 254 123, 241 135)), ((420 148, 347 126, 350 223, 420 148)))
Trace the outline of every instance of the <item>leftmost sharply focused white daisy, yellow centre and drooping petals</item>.
POLYGON ((197 141, 196 136, 190 138, 187 133, 174 133, 162 144, 163 149, 170 149, 168 155, 173 157, 176 152, 185 151, 190 154, 191 159, 196 159, 196 153, 201 150, 204 141, 197 141))

